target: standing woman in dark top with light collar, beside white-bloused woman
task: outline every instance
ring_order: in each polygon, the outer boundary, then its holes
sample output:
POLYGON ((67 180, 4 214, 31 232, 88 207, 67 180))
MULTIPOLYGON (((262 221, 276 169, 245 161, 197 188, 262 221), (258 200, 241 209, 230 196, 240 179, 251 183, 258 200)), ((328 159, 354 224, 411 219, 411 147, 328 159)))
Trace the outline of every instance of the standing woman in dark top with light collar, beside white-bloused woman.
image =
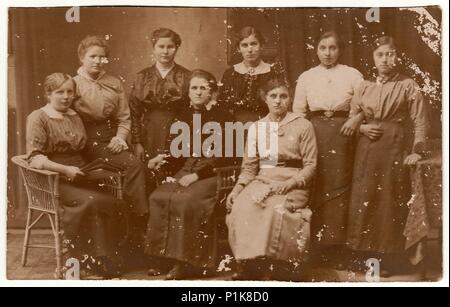
POLYGON ((222 77, 218 103, 231 113, 235 121, 257 121, 267 115, 267 105, 258 95, 258 88, 272 79, 285 80, 279 63, 262 60, 265 39, 255 28, 247 26, 237 35, 236 48, 242 62, 228 68, 222 77))

